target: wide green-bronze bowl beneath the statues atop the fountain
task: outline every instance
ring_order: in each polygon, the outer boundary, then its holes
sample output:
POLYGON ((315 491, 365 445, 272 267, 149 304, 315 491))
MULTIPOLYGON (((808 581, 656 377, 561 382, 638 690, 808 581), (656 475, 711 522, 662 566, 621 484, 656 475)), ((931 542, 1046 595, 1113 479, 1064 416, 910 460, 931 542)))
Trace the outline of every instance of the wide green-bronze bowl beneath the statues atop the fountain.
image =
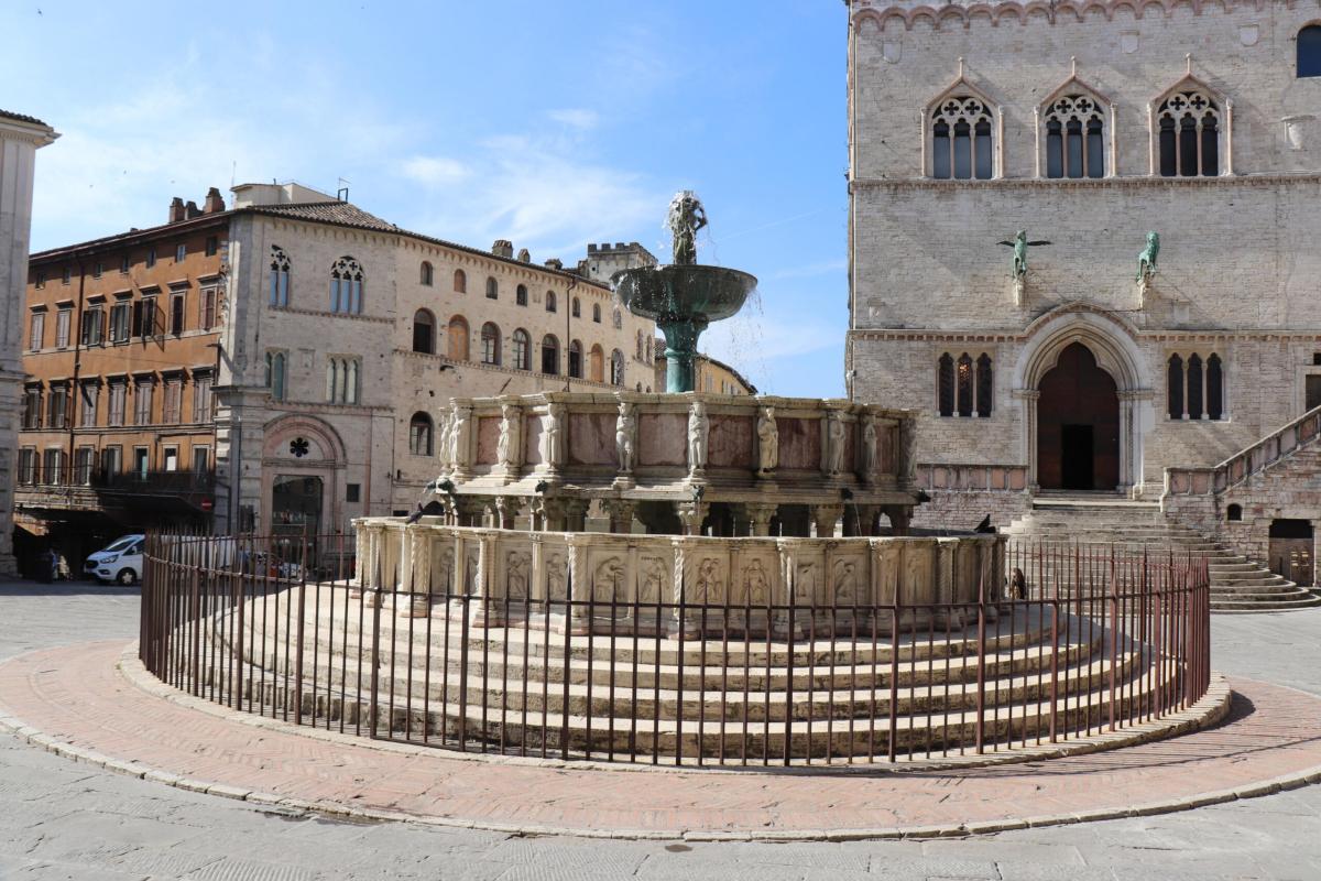
POLYGON ((720 321, 738 312, 756 288, 756 276, 700 264, 639 267, 614 279, 614 289, 629 312, 653 321, 720 321))

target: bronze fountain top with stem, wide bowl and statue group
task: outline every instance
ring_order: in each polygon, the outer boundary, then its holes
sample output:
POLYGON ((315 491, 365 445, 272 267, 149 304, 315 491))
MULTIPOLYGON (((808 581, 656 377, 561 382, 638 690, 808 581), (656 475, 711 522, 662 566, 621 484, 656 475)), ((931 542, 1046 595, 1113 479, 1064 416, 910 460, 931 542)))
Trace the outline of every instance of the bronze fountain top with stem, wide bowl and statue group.
POLYGON ((664 334, 666 391, 694 391, 697 338, 712 321, 737 313, 757 279, 724 267, 697 263, 697 230, 707 213, 692 190, 670 202, 666 226, 674 234, 674 263, 626 269, 614 291, 629 312, 651 318, 664 334))

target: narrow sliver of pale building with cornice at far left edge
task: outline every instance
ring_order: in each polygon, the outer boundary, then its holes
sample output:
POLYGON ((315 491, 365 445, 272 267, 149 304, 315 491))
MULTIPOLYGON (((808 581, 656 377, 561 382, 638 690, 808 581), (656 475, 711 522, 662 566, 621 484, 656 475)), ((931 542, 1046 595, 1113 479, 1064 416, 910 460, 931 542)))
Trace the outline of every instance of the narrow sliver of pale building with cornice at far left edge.
POLYGON ((17 571, 12 524, 32 178, 37 149, 57 137, 40 119, 0 110, 0 576, 17 571))

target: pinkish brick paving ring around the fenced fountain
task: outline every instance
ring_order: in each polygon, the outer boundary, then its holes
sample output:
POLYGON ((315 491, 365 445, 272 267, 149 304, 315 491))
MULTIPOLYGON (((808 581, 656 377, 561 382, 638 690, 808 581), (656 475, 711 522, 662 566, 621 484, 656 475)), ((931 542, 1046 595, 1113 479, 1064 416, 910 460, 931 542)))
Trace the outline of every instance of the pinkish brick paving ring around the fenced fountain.
POLYGON ((1225 724, 1165 741, 958 771, 860 775, 493 766, 244 724, 161 700, 124 643, 0 666, 0 724, 92 765, 215 795, 509 832, 709 840, 942 836, 1157 814, 1321 779, 1321 699, 1232 679, 1225 724))

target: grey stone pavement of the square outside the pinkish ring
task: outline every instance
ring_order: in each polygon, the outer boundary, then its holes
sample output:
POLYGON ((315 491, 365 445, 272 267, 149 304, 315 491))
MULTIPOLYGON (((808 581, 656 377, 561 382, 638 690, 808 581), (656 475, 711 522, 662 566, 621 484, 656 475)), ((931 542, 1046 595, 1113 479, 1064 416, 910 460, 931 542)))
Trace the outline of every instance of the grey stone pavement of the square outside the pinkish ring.
MULTIPOLYGON (((133 592, 0 585, 0 656, 131 638, 133 592)), ((1321 609, 1215 618, 1215 663, 1321 695, 1321 609)), ((494 769, 491 773, 498 773, 494 769)), ((125 778, 0 734, 0 878, 1318 878, 1321 787, 960 840, 678 844, 353 824, 125 778)))

